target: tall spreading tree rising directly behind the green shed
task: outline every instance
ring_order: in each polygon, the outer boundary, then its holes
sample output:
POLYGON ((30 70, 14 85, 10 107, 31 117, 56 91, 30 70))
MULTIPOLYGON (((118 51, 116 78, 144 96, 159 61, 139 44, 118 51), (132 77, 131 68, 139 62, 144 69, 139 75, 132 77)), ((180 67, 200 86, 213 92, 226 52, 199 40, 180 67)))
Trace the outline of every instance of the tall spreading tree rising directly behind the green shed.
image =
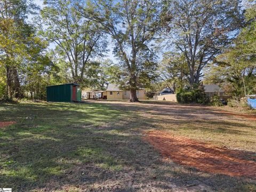
POLYGON ((44 1, 41 11, 44 35, 55 43, 55 53, 67 63, 74 82, 86 86, 86 68, 95 55, 102 56, 107 47, 106 37, 98 23, 85 19, 77 11, 85 1, 44 1))

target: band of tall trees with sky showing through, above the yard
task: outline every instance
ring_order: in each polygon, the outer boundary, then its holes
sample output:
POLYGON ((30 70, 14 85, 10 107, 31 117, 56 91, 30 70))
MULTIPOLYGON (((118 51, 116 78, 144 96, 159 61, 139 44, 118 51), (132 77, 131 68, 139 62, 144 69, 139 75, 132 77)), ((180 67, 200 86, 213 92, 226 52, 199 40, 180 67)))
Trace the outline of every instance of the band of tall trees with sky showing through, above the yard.
POLYGON ((255 27, 255 1, 1 0, 0 99, 45 99, 68 82, 118 83, 130 101, 201 81, 255 94, 255 27))

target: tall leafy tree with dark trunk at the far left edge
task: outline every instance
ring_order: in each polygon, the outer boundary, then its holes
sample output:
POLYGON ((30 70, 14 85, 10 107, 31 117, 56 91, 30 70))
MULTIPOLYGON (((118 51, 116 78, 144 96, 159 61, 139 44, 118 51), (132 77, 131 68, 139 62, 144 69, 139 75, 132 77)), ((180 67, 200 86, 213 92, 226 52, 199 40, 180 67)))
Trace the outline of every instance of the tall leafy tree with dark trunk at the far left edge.
POLYGON ((22 97, 18 69, 34 42, 33 27, 26 23, 36 6, 26 0, 0 1, 0 65, 6 70, 7 98, 22 97))

